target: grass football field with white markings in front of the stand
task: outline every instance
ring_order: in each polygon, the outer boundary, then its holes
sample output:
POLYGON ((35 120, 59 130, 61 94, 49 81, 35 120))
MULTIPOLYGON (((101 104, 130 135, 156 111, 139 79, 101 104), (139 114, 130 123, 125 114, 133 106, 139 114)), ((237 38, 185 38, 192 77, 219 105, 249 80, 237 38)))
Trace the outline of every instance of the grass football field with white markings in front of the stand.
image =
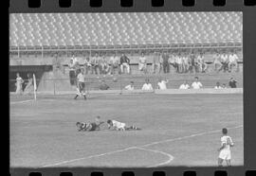
POLYGON ((244 165, 243 94, 10 97, 10 167, 216 166, 222 128, 244 165), (141 131, 78 132, 115 119, 141 131))

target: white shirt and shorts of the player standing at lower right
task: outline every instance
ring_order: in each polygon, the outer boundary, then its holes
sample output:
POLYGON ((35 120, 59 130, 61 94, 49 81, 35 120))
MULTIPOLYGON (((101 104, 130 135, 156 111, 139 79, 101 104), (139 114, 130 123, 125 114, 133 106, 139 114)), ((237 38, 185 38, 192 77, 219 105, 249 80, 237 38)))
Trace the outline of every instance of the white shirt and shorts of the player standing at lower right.
POLYGON ((233 145, 232 139, 229 135, 221 137, 221 145, 226 144, 225 148, 220 151, 219 158, 223 160, 231 159, 230 145, 233 145))

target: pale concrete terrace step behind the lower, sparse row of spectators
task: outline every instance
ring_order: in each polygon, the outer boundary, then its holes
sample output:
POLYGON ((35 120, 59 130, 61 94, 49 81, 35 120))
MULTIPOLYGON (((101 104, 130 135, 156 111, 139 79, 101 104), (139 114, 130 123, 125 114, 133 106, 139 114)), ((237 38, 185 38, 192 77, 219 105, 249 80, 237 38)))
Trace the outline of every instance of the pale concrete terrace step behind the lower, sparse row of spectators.
MULTIPOLYGON (((121 90, 125 85, 129 84, 130 81, 135 82, 135 89, 141 89, 145 79, 150 79, 150 82, 153 84, 153 87, 156 88, 157 81, 161 79, 169 79, 167 87, 169 89, 176 89, 179 85, 188 80, 191 84, 194 77, 197 76, 202 82, 205 88, 212 88, 215 86, 216 82, 219 81, 221 84, 226 83, 228 86, 229 79, 233 77, 237 80, 237 87, 243 87, 243 73, 198 73, 198 74, 159 74, 159 75, 117 75, 117 76, 96 76, 88 75, 86 76, 85 87, 86 90, 99 90, 99 85, 101 80, 104 79, 106 84, 109 85, 110 90, 121 90), (117 81, 114 81, 113 78, 117 78, 117 81)), ((54 80, 44 79, 41 80, 41 86, 39 86, 39 91, 50 91, 50 92, 61 92, 61 91, 71 91, 75 92, 76 88, 71 86, 69 83, 68 76, 66 77, 55 77, 54 80)))

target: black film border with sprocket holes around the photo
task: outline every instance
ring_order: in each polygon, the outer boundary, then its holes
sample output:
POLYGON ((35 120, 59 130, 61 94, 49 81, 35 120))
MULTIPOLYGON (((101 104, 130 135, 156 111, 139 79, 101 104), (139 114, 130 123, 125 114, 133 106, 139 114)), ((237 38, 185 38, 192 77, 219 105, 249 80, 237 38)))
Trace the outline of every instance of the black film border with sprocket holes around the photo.
MULTIPOLYGON (((72 0, 70 8, 59 8, 58 0, 41 0, 41 7, 29 9, 27 0, 9 0, 9 13, 34 12, 138 12, 138 11, 242 11, 243 12, 243 51, 244 51, 244 167, 157 167, 157 168, 101 168, 101 167, 58 167, 32 168, 12 167, 8 175, 29 175, 41 172, 42 175, 60 175, 72 172, 73 175, 90 175, 101 171, 104 176, 118 176, 122 171, 134 171, 135 175, 153 175, 154 171, 165 171, 166 175, 183 175, 184 171, 194 170, 196 175, 214 175, 215 170, 227 170, 228 175, 246 175, 247 170, 256 170, 256 6, 244 6, 244 0, 227 0, 226 6, 214 7, 213 0, 196 0, 193 7, 183 7, 182 0, 164 0, 163 7, 151 7, 151 0, 134 0, 131 8, 120 7, 119 0, 103 0, 101 8, 90 8, 89 0, 72 0)), ((9 20, 8 20, 9 21, 9 20)), ((9 23, 9 22, 8 22, 9 23)), ((9 43, 9 37, 8 37, 9 43)), ((8 53, 9 55, 9 53, 8 53)), ((7 84, 8 85, 8 84, 7 84)), ((9 99, 9 97, 8 97, 9 99)), ((8 121, 9 124, 9 121, 8 121)), ((8 136, 9 138, 9 136, 8 136)), ((9 141, 8 141, 9 143, 9 141)), ((252 175, 252 174, 251 174, 252 175)))

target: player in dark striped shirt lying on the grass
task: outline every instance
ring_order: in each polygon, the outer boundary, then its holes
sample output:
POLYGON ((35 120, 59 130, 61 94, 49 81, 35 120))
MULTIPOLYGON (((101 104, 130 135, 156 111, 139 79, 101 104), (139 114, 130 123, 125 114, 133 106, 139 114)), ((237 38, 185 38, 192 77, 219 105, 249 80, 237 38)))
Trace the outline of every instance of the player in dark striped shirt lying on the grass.
POLYGON ((100 131, 101 124, 104 122, 100 120, 101 116, 97 116, 95 122, 77 122, 76 126, 78 127, 79 132, 92 132, 100 131))

